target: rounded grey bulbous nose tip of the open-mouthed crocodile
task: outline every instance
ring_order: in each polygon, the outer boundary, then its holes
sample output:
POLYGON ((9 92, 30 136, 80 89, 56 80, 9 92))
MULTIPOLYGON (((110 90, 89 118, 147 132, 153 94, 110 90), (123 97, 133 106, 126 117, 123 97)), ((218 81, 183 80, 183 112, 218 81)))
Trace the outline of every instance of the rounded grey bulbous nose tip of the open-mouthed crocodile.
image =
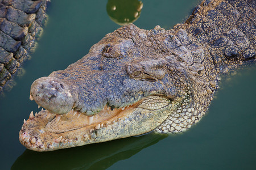
POLYGON ((35 80, 31 85, 30 95, 38 105, 56 114, 71 111, 77 99, 68 83, 51 76, 35 80))

